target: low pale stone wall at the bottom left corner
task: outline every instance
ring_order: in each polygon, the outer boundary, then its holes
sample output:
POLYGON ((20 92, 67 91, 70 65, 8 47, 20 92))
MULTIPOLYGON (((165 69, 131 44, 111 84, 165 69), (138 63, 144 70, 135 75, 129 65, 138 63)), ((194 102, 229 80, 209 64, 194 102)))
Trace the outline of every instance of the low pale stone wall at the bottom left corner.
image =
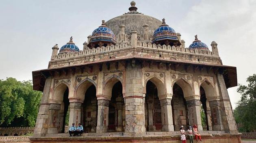
POLYGON ((30 136, 0 137, 0 143, 30 143, 30 136))

